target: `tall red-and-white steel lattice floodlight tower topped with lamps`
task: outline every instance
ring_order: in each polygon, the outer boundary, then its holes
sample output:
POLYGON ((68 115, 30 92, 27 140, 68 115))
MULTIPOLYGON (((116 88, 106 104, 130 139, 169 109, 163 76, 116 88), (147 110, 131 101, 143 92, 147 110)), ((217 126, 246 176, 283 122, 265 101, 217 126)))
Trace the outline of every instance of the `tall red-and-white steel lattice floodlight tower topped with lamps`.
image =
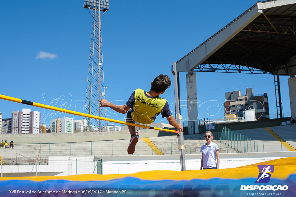
MULTIPOLYGON (((108 11, 109 0, 84 0, 83 7, 93 17, 84 113, 106 117, 106 109, 99 106, 99 100, 105 98, 101 16, 108 11)), ((86 131, 104 131, 105 128, 105 121, 88 118, 86 131)))

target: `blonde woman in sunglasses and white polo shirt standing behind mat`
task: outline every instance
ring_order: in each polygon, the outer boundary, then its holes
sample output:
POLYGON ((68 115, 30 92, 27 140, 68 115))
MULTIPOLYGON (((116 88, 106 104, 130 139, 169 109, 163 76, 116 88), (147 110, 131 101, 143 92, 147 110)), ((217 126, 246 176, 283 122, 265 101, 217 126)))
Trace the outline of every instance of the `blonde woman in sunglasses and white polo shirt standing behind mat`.
POLYGON ((219 147, 217 144, 212 142, 212 132, 207 131, 204 137, 207 142, 200 149, 200 152, 202 152, 202 161, 200 164, 200 169, 219 169, 219 147))

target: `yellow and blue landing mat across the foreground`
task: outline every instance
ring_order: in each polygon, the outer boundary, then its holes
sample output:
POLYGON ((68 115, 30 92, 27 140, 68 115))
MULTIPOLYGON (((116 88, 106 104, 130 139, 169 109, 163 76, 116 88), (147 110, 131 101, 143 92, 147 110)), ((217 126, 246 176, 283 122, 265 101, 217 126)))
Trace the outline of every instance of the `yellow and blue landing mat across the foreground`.
POLYGON ((296 157, 221 170, 3 177, 0 196, 295 197, 296 157))

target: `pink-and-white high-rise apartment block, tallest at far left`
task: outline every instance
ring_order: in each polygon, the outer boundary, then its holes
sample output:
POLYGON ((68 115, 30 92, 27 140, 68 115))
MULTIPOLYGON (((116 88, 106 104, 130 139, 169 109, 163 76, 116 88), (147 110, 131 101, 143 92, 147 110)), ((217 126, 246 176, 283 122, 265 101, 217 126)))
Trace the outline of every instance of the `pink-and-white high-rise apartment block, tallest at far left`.
POLYGON ((31 109, 22 109, 12 112, 12 134, 38 134, 40 132, 40 112, 31 109))

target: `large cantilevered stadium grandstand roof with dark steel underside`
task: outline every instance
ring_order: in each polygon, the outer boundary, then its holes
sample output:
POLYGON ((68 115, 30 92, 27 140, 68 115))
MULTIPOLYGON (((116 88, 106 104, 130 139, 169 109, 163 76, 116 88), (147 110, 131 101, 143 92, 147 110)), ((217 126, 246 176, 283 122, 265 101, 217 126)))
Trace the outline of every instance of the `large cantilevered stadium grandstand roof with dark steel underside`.
POLYGON ((296 0, 258 1, 176 62, 177 72, 296 74, 296 0))

